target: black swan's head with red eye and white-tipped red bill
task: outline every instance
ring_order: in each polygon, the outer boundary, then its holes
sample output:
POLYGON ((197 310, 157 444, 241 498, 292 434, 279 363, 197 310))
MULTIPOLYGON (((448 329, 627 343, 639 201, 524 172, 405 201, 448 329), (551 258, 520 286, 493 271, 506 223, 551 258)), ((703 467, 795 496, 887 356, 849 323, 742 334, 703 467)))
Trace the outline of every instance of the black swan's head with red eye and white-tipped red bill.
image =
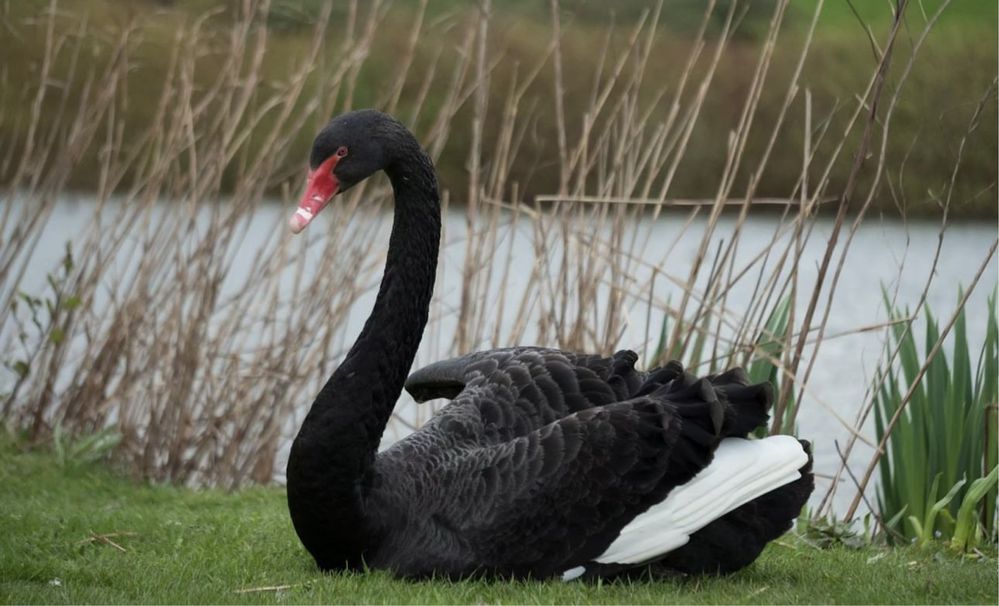
POLYGON ((408 131, 395 118, 373 109, 333 118, 312 143, 305 193, 289 221, 291 231, 301 232, 334 196, 385 168, 400 133, 408 131))

